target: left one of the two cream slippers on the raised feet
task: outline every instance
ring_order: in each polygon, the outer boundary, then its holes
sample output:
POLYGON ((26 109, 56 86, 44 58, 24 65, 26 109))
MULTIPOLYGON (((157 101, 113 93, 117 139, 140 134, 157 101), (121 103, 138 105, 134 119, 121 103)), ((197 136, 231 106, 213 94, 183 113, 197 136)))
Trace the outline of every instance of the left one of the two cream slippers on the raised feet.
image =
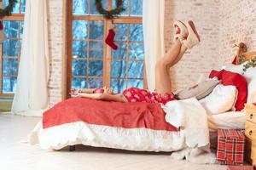
POLYGON ((175 36, 174 36, 174 42, 178 39, 180 42, 183 42, 184 39, 187 39, 189 35, 189 31, 187 29, 187 26, 180 20, 177 20, 173 23, 173 26, 175 28, 175 36))

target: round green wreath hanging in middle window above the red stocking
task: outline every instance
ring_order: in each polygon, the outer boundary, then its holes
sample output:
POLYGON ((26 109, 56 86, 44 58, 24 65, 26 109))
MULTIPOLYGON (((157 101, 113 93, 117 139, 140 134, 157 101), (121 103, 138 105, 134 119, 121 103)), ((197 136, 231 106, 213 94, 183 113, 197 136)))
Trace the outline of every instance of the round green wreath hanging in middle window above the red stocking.
POLYGON ((106 10, 102 6, 102 0, 96 0, 96 9, 100 14, 103 14, 104 18, 112 19, 114 16, 117 16, 121 12, 125 11, 123 6, 123 0, 116 0, 116 8, 112 10, 106 10))

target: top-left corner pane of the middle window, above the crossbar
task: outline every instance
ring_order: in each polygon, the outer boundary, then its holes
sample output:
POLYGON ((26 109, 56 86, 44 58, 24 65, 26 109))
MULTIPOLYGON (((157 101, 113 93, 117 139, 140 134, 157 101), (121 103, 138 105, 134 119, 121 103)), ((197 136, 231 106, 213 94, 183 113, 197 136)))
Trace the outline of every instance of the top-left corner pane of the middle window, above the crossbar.
POLYGON ((73 0, 73 14, 88 14, 88 0, 73 0))

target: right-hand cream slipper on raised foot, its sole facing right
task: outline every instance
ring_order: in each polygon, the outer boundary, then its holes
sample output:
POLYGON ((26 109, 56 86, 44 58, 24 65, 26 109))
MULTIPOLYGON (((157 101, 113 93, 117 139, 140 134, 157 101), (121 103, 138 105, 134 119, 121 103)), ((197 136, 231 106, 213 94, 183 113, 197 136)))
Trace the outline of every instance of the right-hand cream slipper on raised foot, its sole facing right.
POLYGON ((183 40, 183 45, 186 48, 193 48, 196 44, 200 42, 200 36, 196 31, 195 24, 193 23, 192 20, 189 20, 187 28, 189 31, 189 36, 187 37, 186 40, 183 40))

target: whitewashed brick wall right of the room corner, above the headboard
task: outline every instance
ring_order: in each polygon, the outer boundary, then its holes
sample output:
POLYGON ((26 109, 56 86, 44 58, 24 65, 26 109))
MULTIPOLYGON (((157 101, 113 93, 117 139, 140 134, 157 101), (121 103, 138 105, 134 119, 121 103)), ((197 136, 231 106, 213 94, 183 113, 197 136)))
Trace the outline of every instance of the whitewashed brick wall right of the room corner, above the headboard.
POLYGON ((221 64, 234 58, 236 42, 245 42, 248 51, 256 50, 256 1, 225 0, 219 7, 219 56, 221 64))

